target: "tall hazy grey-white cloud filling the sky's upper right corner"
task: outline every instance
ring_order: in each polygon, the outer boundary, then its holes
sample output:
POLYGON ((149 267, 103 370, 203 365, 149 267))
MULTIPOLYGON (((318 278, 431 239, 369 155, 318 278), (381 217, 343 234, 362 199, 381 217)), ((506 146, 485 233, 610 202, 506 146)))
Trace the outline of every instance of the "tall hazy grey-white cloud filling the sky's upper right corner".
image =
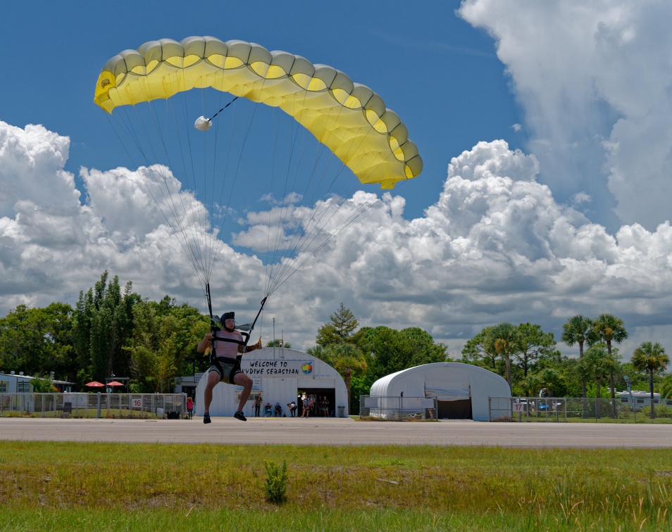
POLYGON ((614 230, 671 219, 672 4, 465 0, 459 14, 495 39, 558 201, 600 198, 614 230))

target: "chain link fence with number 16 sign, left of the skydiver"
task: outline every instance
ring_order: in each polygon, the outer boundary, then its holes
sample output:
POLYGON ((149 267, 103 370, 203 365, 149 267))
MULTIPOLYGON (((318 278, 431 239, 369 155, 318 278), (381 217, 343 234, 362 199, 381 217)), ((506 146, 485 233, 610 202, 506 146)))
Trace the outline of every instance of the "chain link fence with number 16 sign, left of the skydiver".
POLYGON ((0 393, 0 416, 184 417, 183 393, 0 393))

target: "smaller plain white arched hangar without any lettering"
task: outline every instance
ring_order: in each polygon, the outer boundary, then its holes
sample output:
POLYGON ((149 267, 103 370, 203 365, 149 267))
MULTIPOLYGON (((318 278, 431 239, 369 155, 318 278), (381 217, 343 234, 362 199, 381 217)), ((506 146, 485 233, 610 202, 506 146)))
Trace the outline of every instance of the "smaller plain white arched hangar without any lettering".
POLYGON ((436 362, 386 375, 371 386, 371 415, 390 417, 433 407, 439 419, 488 421, 488 398, 511 397, 505 379, 482 367, 461 362, 436 362), (396 408, 396 412, 395 412, 396 408))

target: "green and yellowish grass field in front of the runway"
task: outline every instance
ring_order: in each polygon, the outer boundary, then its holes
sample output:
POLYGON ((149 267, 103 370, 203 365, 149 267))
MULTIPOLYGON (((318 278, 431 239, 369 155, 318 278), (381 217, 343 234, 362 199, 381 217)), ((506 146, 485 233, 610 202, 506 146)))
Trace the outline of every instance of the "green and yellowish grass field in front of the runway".
POLYGON ((0 531, 672 528, 670 450, 3 442, 0 531), (287 463, 287 501, 265 460, 287 463))

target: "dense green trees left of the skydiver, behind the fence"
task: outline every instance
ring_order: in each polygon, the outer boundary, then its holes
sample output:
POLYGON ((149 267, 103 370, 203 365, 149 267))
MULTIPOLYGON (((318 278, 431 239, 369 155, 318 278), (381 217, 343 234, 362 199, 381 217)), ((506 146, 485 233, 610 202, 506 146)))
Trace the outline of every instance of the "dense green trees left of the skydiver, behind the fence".
MULTIPOLYGON (((209 330, 209 317, 165 296, 142 298, 129 281, 122 289, 108 272, 75 308, 18 305, 0 318, 0 369, 70 381, 130 377, 133 393, 173 391, 178 376, 204 371, 208 361, 196 346, 209 330)), ((42 389, 41 391, 46 391, 42 389)))

